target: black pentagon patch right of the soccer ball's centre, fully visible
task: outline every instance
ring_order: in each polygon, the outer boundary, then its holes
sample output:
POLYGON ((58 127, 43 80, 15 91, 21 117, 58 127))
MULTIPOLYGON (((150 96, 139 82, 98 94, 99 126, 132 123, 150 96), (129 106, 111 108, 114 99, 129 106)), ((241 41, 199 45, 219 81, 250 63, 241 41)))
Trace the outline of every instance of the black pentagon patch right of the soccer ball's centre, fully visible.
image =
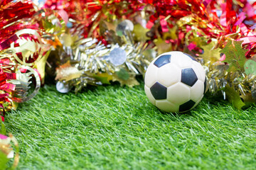
POLYGON ((188 86, 193 86, 198 80, 196 73, 192 68, 182 69, 181 70, 181 82, 188 86))

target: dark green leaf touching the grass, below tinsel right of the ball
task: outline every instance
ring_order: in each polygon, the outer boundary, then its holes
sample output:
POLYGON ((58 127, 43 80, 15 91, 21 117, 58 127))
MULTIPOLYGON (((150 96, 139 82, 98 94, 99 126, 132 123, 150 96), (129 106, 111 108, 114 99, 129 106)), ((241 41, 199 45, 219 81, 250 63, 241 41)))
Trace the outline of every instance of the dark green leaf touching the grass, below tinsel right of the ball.
POLYGON ((243 106, 245 106, 245 103, 242 102, 239 93, 235 91, 235 89, 227 85, 225 86, 224 91, 227 95, 228 101, 232 103, 233 107, 240 110, 243 106))

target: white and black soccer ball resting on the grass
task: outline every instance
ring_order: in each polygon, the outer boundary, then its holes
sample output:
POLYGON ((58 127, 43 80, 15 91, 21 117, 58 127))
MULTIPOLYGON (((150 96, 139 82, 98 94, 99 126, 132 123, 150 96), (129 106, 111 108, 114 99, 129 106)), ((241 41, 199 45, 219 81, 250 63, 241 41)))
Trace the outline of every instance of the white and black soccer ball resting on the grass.
POLYGON ((166 112, 186 112, 196 107, 206 91, 206 72, 184 52, 166 52, 149 64, 145 74, 149 101, 166 112))

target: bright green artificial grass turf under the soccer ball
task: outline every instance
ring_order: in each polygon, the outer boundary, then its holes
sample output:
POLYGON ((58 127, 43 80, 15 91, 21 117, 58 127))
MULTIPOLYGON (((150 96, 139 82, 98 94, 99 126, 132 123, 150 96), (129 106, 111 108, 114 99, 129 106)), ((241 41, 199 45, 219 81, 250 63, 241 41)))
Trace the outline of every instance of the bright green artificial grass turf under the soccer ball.
POLYGON ((186 114, 161 113, 135 88, 59 94, 45 86, 6 129, 18 140, 18 169, 255 169, 256 108, 208 98, 186 114))

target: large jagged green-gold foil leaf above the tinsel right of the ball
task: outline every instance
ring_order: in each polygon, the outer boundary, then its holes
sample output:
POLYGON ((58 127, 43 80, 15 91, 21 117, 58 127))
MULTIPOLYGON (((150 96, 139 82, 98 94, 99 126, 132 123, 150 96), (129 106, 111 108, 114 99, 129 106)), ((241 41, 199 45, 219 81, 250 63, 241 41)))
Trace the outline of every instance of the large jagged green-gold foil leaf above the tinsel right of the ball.
POLYGON ((229 39, 227 45, 220 52, 225 54, 223 62, 228 62, 228 72, 244 70, 246 50, 242 49, 242 41, 232 41, 229 39))

